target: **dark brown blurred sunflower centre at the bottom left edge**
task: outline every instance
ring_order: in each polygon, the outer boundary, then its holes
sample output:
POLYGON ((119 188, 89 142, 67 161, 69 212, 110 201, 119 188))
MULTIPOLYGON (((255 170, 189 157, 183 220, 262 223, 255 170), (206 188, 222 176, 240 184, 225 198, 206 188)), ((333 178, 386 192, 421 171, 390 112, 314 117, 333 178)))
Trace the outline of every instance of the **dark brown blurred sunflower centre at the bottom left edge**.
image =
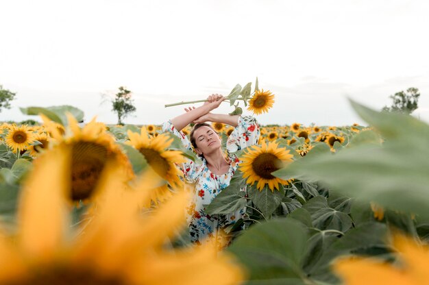
POLYGON ((54 267, 48 269, 35 269, 26 276, 17 280, 9 280, 2 284, 8 285, 42 285, 42 284, 64 284, 64 285, 121 285, 125 280, 118 276, 104 276, 91 269, 73 269, 67 267, 54 267))

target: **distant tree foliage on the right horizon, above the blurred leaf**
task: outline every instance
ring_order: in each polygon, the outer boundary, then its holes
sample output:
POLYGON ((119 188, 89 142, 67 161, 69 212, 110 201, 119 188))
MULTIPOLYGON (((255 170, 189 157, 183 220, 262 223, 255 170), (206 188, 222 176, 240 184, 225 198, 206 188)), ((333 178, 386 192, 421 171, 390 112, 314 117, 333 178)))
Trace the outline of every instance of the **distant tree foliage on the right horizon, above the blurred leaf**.
POLYGON ((419 101, 420 92, 417 88, 408 88, 405 92, 396 92, 391 95, 393 100, 392 106, 389 108, 384 106, 383 111, 387 112, 401 112, 403 114, 411 114, 417 109, 417 102, 419 101))

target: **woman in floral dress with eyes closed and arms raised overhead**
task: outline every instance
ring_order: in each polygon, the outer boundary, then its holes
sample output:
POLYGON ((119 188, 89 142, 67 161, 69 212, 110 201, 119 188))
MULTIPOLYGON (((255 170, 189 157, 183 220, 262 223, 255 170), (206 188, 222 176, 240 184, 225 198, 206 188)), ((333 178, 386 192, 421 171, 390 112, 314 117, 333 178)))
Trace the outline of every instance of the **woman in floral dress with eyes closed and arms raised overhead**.
MULTIPOLYGON (((203 106, 185 108, 186 113, 164 123, 162 130, 175 134, 183 145, 192 149, 201 158, 201 164, 188 160, 178 165, 189 183, 195 183, 193 201, 188 206, 188 223, 191 241, 200 244, 207 237, 212 237, 226 225, 241 219, 244 209, 228 215, 208 215, 205 206, 230 184, 231 177, 238 168, 240 160, 234 154, 240 149, 258 143, 260 130, 252 116, 212 114, 225 98, 210 95, 203 106), (221 138, 206 121, 219 122, 234 127, 226 143, 227 156, 221 148, 221 138), (195 123, 190 137, 191 142, 181 132, 189 123, 195 123)), ((245 189, 243 189, 245 190, 245 189)))

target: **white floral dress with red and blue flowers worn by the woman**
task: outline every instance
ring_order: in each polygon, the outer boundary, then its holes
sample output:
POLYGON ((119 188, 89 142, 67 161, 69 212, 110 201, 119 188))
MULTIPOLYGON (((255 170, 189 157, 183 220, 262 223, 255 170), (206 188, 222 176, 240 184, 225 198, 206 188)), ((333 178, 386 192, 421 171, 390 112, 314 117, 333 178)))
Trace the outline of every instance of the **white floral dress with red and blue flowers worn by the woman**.
MULTIPOLYGON (((163 132, 171 132, 182 140, 184 147, 192 150, 190 140, 188 140, 183 132, 178 132, 173 124, 171 124, 171 121, 165 122, 162 125, 162 130, 163 132)), ((245 209, 226 215, 208 215, 205 210, 206 206, 215 199, 221 190, 230 185, 232 175, 234 175, 238 164, 241 162, 234 153, 250 145, 257 144, 259 136, 260 129, 254 117, 240 116, 238 118, 238 125, 234 128, 226 143, 230 169, 223 175, 212 173, 208 169, 204 158, 201 159, 201 164, 196 164, 192 160, 177 164, 184 173, 186 182, 195 184, 193 199, 186 208, 187 221, 193 243, 200 244, 205 238, 216 234, 217 230, 235 223, 243 217, 245 209)), ((242 190, 245 190, 245 188, 242 190)))

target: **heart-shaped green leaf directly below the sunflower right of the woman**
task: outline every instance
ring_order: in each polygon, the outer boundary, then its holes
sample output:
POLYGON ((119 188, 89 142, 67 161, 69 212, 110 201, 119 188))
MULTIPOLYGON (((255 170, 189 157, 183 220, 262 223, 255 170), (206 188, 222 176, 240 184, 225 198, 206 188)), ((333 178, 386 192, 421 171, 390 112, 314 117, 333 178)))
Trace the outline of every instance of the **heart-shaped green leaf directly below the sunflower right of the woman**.
POLYGON ((249 195, 249 198, 252 199, 256 207, 258 207, 266 218, 273 214, 274 210, 280 205, 285 193, 281 185, 279 190, 274 189, 273 192, 269 190, 267 185, 265 185, 262 191, 258 190, 255 186, 247 187, 247 195, 249 195))

